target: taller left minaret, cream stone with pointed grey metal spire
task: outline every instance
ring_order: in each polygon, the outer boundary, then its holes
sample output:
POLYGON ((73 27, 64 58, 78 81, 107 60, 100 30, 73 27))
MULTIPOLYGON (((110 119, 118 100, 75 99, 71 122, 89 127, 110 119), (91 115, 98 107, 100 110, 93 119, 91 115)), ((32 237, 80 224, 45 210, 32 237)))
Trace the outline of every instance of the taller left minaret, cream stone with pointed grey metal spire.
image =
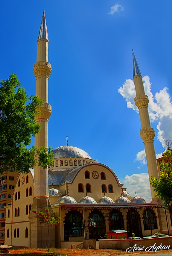
MULTIPOLYGON (((51 64, 48 63, 48 43, 45 13, 43 12, 37 40, 37 59, 33 69, 36 77, 36 95, 44 100, 42 106, 39 107, 40 113, 36 116, 36 122, 41 125, 41 129, 35 135, 35 147, 48 147, 48 119, 51 116, 51 105, 48 104, 48 78, 51 74, 51 64)), ((45 248, 47 247, 47 230, 42 230, 32 210, 45 211, 45 207, 48 207, 52 211, 48 196, 48 168, 43 169, 36 165, 34 169, 34 201, 29 215, 29 247, 45 248)), ((53 234, 52 232, 52 236, 53 234)), ((54 237, 51 239, 54 241, 54 237)))

